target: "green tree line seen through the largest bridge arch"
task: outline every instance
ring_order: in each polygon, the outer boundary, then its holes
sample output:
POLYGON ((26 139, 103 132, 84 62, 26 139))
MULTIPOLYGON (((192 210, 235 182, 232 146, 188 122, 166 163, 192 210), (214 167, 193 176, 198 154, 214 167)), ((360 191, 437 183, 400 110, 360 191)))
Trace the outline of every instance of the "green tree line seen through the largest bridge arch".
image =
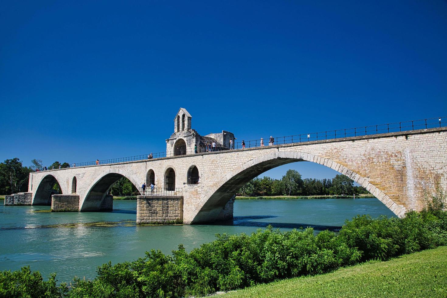
POLYGON ((288 170, 282 179, 264 176, 254 178, 239 190, 242 196, 324 196, 368 193, 362 186, 354 186, 354 180, 339 174, 333 179, 302 179, 296 170, 288 170))

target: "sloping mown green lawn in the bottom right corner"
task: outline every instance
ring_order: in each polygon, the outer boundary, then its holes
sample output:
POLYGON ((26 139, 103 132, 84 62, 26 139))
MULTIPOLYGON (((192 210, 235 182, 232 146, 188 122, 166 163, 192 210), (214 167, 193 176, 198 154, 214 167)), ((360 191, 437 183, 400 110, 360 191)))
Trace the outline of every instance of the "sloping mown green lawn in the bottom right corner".
POLYGON ((218 297, 447 297, 447 246, 218 297))

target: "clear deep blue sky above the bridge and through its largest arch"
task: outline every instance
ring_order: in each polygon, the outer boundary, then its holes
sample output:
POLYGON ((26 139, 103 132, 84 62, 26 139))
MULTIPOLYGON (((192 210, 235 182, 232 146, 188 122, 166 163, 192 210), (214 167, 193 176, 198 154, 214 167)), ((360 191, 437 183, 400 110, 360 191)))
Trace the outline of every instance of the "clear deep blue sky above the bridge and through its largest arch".
POLYGON ((164 151, 180 107, 239 140, 446 116, 447 2, 363 2, 1 1, 0 159, 164 151))

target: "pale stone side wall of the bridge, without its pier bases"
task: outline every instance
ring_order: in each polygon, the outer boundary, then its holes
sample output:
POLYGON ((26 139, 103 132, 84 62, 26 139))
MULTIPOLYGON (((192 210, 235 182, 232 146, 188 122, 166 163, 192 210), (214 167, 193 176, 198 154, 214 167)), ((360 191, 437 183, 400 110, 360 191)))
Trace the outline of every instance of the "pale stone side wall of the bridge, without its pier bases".
MULTIPOLYGON (((82 206, 84 200, 88 201, 87 194, 95 183, 107 173, 119 173, 141 187, 152 169, 155 186, 163 188, 164 174, 168 168, 173 168, 175 187, 183 190, 183 222, 211 221, 234 194, 225 192, 222 187, 237 175, 237 171, 251 163, 273 158, 270 168, 294 161, 310 161, 333 168, 350 176, 390 210, 404 216, 405 211, 422 209, 425 192, 434 192, 437 185, 447 189, 446 152, 447 127, 442 127, 33 172, 29 192, 34 192, 45 176, 52 175, 62 193, 71 193, 76 176, 76 193, 80 195, 82 206), (192 165, 199 171, 197 185, 187 184, 188 169, 192 165), (215 206, 215 210, 211 210, 212 206, 208 210, 207 201, 218 190, 230 197, 221 200, 223 205, 215 206)), ((243 178, 238 182, 244 182, 243 178)))

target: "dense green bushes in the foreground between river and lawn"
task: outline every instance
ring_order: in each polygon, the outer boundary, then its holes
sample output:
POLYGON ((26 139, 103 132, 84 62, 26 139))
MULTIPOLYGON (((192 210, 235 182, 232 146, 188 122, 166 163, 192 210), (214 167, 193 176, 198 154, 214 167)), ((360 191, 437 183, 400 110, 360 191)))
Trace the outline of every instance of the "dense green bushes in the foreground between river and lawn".
MULTIPOLYGON (((447 245, 445 192, 426 198, 421 212, 405 218, 358 215, 339 232, 312 228, 281 232, 269 226, 251 235, 216 235, 191 252, 183 245, 164 255, 159 250, 131 262, 97 269, 97 277, 75 277, 57 286, 29 267, 0 273, 0 297, 187 297, 228 291, 291 277, 331 272, 368 260, 447 245)), ((430 269, 427 269, 430 270, 430 269)), ((365 281, 365 286, 368 286, 365 281)))

